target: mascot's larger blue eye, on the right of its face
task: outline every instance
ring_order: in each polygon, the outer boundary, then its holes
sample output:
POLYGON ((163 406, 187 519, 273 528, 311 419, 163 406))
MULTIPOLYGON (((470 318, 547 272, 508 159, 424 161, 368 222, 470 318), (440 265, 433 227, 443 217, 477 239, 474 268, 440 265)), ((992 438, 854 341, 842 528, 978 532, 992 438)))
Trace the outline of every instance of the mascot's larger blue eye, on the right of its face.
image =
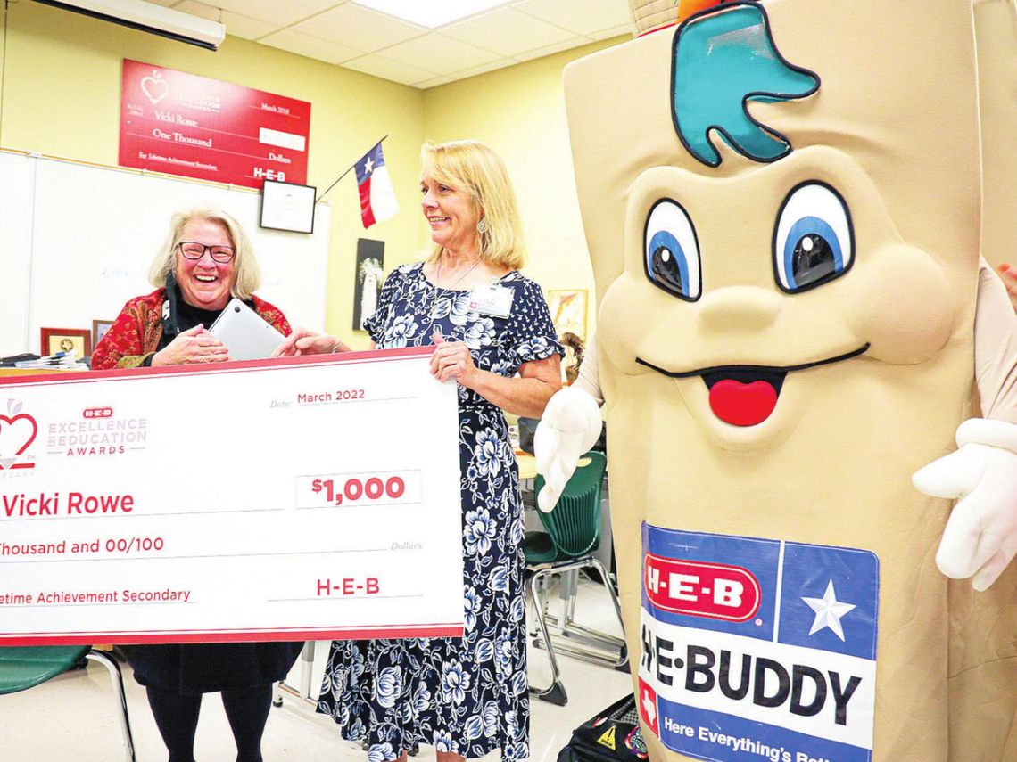
POLYGON ((803 183, 781 206, 773 236, 777 284, 794 294, 844 274, 854 259, 847 204, 833 188, 803 183))

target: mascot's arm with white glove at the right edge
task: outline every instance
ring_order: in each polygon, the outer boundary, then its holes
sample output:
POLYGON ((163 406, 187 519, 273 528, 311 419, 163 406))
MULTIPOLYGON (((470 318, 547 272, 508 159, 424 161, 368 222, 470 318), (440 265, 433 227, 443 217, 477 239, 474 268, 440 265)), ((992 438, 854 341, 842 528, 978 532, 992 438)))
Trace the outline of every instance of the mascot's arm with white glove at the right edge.
POLYGON ((982 263, 975 316, 975 377, 984 419, 957 429, 957 450, 918 470, 926 495, 956 499, 936 563, 984 590, 1017 554, 1017 317, 982 263))

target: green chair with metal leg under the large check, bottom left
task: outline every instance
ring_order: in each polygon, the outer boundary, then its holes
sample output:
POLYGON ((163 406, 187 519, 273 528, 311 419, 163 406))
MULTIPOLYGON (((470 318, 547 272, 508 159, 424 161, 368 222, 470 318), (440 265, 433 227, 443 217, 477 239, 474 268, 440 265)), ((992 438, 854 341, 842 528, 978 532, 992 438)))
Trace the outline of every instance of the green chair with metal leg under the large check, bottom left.
POLYGON ((130 718, 127 715, 123 676, 120 673, 120 665, 103 651, 97 651, 86 645, 0 647, 0 695, 35 688, 47 680, 63 675, 68 670, 82 666, 85 659, 100 662, 110 673, 114 698, 117 702, 117 716, 123 735, 125 758, 128 762, 135 762, 134 740, 130 732, 130 718))

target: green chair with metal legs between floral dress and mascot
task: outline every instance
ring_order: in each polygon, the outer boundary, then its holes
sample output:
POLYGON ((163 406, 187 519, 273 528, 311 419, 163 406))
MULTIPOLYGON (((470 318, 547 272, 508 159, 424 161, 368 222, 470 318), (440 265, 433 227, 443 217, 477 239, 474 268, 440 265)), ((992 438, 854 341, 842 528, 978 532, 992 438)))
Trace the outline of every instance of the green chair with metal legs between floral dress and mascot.
MULTIPOLYGON (((600 492, 606 466, 603 453, 591 451, 581 457, 554 510, 550 513, 538 512, 546 533, 527 532, 523 546, 526 567, 531 573, 528 592, 536 610, 540 635, 534 639, 534 645, 547 650, 551 668, 550 686, 531 688, 530 692, 558 706, 567 703, 569 695, 561 683, 555 651, 613 669, 624 666, 629 660, 623 638, 583 627, 573 621, 575 586, 561 617, 547 613, 545 596, 546 582, 551 575, 571 573, 570 577, 574 579, 580 569, 595 569, 614 607, 618 627, 623 631, 617 592, 607 570, 593 555, 600 546, 600 492)), ((537 477, 536 495, 543 487, 543 478, 537 477)), ((562 582, 565 583, 566 579, 563 578, 562 582)))

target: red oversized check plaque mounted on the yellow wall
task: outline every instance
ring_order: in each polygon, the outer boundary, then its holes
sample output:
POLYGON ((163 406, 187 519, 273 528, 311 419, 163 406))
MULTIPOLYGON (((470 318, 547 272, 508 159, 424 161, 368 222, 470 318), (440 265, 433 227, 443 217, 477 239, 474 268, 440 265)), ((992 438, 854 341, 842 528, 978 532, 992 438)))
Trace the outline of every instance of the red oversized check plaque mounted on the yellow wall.
POLYGON ((307 182, 311 105, 124 59, 120 166, 260 188, 307 182))

